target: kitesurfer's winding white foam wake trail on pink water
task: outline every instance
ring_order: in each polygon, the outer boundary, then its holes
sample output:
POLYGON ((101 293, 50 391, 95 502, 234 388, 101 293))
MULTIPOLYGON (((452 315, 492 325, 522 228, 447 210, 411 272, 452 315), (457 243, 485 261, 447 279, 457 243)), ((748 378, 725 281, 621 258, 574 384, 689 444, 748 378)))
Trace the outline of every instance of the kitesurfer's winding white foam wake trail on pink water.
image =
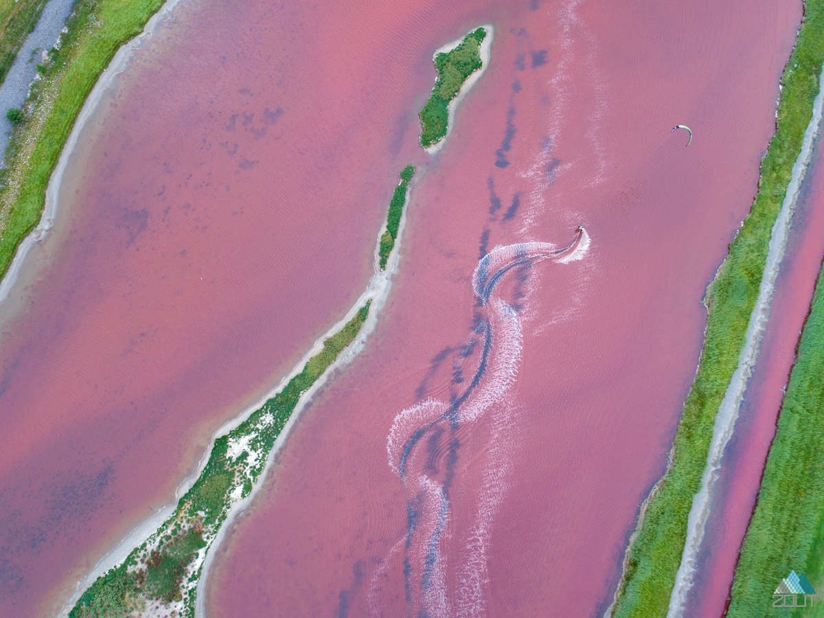
MULTIPOLYGON (((477 325, 466 349, 480 346, 480 362, 466 389, 448 401, 427 399, 396 416, 386 443, 391 470, 398 475, 407 501, 407 531, 372 575, 369 605, 381 616, 382 583, 390 562, 404 573, 410 616, 481 616, 489 581, 489 527, 508 476, 513 450, 514 419, 509 391, 521 363, 522 331, 518 311, 499 297, 500 283, 521 267, 549 260, 564 264, 583 257, 587 232, 578 227, 574 241, 563 248, 545 242, 499 246, 485 255, 472 276, 477 325), (453 521, 451 495, 458 453, 487 431, 489 438, 473 461, 480 483, 471 488, 474 520, 470 526, 453 521), (455 555, 447 541, 457 541, 455 555)), ((459 354, 456 366, 470 354, 459 354)), ((463 495, 463 494, 461 494, 463 495)))

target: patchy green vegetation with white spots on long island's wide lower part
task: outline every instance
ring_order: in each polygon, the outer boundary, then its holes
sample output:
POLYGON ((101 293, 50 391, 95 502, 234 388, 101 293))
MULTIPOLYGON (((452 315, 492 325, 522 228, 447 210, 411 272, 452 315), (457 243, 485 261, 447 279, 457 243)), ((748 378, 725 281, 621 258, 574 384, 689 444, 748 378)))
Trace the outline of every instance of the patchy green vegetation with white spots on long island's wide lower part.
POLYGON ((175 513, 123 564, 97 578, 83 592, 69 618, 140 616, 148 601, 182 603, 180 616, 194 618, 201 573, 199 568, 194 569, 194 562, 199 552, 208 551, 232 503, 250 494, 300 396, 353 342, 371 304, 368 301, 343 328, 326 339, 321 352, 309 359, 283 391, 215 440, 204 471, 180 499, 175 513), (238 444, 244 445, 242 452, 233 455, 232 445, 238 444))

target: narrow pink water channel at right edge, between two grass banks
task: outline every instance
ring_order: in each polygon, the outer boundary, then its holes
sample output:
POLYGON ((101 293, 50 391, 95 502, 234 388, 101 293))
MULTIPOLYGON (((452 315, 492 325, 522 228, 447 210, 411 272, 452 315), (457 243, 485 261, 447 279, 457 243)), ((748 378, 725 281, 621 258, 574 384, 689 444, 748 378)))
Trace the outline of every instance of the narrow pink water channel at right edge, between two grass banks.
MULTIPOLYGON (((713 497, 688 616, 722 616, 770 442, 824 257, 824 149, 817 147, 794 213, 761 355, 713 497)), ((803 565, 798 565, 798 570, 803 565)), ((769 598, 771 591, 765 591, 769 598)))

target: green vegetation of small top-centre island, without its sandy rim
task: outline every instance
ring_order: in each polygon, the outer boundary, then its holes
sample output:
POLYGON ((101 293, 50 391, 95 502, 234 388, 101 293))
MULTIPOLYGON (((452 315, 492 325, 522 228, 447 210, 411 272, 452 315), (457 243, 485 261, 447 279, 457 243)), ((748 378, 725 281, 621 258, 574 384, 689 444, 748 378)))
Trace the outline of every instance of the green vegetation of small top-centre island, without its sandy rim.
POLYGON ((420 110, 420 145, 434 146, 447 135, 449 125, 449 103, 454 99, 466 79, 483 66, 480 44, 486 38, 484 28, 472 31, 455 49, 435 56, 438 78, 432 96, 420 110))

